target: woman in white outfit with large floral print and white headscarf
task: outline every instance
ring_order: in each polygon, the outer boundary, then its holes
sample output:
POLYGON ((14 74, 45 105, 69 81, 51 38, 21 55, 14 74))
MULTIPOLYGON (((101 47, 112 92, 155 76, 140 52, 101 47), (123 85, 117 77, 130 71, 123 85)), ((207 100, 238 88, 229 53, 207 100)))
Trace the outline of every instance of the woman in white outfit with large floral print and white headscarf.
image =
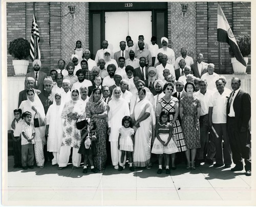
POLYGON ((78 153, 81 145, 81 132, 76 127, 76 121, 78 118, 84 118, 84 108, 82 102, 79 100, 78 90, 75 89, 72 91, 71 99, 66 102, 61 113, 62 142, 59 151, 59 170, 68 166, 71 147, 73 147, 72 169, 78 168, 81 163, 81 154, 78 153))

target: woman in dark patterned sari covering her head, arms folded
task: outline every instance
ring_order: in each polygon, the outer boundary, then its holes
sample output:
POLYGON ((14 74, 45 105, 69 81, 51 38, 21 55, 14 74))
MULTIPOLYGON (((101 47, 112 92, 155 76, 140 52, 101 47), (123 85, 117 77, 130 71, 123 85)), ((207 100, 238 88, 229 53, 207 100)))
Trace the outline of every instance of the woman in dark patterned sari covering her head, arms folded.
POLYGON ((96 122, 97 140, 94 164, 99 170, 103 170, 106 164, 107 106, 106 102, 102 99, 101 90, 99 88, 93 89, 86 105, 86 116, 96 122))

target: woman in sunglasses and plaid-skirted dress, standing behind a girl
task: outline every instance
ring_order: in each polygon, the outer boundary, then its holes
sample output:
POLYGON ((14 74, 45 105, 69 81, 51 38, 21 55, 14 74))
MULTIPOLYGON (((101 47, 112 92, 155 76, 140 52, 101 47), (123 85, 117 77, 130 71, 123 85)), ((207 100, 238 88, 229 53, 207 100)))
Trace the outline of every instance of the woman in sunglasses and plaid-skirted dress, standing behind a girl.
MULTIPOLYGON (((158 104, 157 104, 157 108, 156 108, 156 116, 157 116, 157 123, 158 123, 158 117, 160 115, 160 113, 162 111, 166 111, 169 112, 170 114, 170 124, 173 125, 174 127, 174 131, 173 134, 175 136, 175 142, 176 145, 178 147, 178 151, 186 151, 187 147, 186 147, 186 143, 185 143, 185 139, 183 136, 183 132, 181 129, 181 125, 180 125, 180 121, 178 119, 179 116, 179 100, 178 98, 173 97, 171 94, 173 93, 174 90, 174 84, 173 83, 169 83, 167 82, 164 86, 163 86, 163 92, 165 93, 165 95, 160 98, 158 100, 158 104)), ((171 169, 175 170, 175 154, 176 153, 172 153, 171 154, 171 158, 172 158, 172 167, 171 169)))

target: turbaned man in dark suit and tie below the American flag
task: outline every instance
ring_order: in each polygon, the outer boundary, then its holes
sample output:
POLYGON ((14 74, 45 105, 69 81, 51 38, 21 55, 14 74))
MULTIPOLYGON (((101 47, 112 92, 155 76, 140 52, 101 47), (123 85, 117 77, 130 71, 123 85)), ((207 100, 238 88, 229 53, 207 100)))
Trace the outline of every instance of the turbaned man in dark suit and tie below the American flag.
MULTIPOLYGON (((47 74, 45 72, 41 72, 40 67, 41 67, 41 61, 40 60, 34 60, 32 63, 34 71, 29 72, 26 74, 26 77, 33 77, 35 79, 35 83, 33 88, 38 89, 41 92, 44 91, 44 80, 47 78, 47 74)), ((27 89, 27 85, 25 82, 25 89, 27 89)))

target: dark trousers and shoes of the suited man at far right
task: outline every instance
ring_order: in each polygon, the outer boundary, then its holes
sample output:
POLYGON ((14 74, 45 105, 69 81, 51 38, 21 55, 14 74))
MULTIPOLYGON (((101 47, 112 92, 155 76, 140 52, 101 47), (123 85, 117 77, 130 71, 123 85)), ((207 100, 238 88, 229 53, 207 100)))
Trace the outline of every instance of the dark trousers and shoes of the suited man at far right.
POLYGON ((227 117, 228 138, 232 151, 233 163, 238 167, 243 167, 243 159, 245 162, 245 170, 251 170, 251 148, 249 130, 240 132, 234 118, 227 117))

